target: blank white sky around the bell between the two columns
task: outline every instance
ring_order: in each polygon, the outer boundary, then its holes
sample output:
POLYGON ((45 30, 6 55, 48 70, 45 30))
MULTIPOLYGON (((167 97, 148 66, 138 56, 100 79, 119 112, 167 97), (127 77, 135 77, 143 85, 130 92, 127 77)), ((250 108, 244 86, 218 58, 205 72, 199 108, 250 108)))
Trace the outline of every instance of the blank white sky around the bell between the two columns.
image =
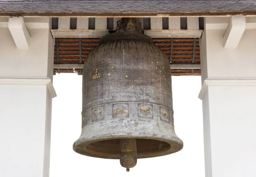
POLYGON ((53 85, 50 177, 205 177, 200 76, 172 76, 174 125, 183 140, 180 152, 138 159, 126 172, 119 160, 87 157, 73 151, 81 133, 82 76, 57 74, 53 85))

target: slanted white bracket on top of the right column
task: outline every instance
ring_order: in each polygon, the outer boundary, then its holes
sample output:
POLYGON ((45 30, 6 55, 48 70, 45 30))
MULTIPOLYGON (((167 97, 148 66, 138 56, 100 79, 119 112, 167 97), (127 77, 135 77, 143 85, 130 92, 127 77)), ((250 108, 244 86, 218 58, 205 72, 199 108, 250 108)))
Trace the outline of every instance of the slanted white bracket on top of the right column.
POLYGON ((224 48, 236 48, 245 28, 246 20, 244 15, 232 16, 224 35, 224 48))

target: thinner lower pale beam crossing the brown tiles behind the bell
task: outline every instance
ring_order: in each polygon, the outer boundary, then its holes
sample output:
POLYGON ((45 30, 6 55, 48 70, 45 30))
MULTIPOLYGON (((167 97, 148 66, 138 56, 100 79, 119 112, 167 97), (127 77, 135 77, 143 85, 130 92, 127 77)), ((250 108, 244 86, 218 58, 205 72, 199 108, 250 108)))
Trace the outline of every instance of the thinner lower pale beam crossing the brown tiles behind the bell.
MULTIPOLYGON (((55 69, 61 69, 61 68, 77 68, 81 69, 83 68, 83 64, 54 64, 55 69)), ((201 65, 170 65, 171 69, 201 69, 201 65)))

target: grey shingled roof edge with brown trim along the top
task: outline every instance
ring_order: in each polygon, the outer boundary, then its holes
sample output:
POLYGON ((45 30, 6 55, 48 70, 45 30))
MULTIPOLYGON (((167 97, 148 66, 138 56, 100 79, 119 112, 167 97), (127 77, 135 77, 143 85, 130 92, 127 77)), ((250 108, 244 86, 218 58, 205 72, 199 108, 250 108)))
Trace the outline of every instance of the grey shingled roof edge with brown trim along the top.
POLYGON ((256 15, 255 0, 1 0, 0 16, 169 17, 256 15))

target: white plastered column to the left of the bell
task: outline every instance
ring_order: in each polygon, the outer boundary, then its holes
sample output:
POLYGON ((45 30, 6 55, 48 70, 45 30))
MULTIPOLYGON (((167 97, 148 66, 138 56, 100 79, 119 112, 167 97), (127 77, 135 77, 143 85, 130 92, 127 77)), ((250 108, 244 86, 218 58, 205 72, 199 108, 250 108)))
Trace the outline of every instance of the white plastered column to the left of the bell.
MULTIPOLYGON (((29 48, 0 25, 0 176, 49 177, 54 40, 50 18, 24 18, 29 48), (35 25, 33 24, 35 23, 35 25)), ((6 20, 0 20, 6 22, 6 20)))

